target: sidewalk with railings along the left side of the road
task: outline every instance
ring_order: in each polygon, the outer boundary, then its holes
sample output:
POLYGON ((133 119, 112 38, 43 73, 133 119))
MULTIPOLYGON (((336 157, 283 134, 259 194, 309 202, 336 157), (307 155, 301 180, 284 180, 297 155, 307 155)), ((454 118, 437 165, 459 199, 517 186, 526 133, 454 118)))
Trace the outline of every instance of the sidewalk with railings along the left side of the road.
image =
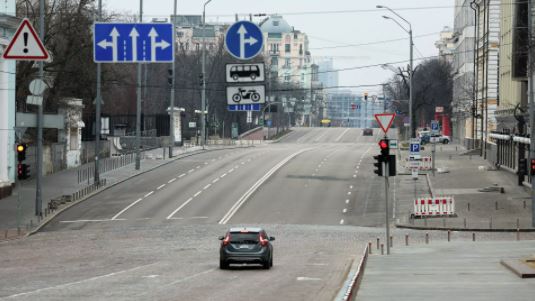
MULTIPOLYGON (((106 181, 106 186, 122 182, 128 178, 138 174, 150 171, 164 164, 170 163, 174 160, 183 158, 184 156, 201 153, 210 150, 222 148, 248 147, 249 145, 233 145, 233 146, 207 146, 205 150, 201 147, 175 147, 174 157, 169 158, 168 155, 163 156, 164 149, 167 154, 168 148, 158 148, 142 153, 141 169, 135 170, 135 164, 126 165, 124 167, 102 173, 101 180, 106 181)), ((87 165, 93 165, 89 163, 87 165)), ((92 179, 89 184, 92 184, 92 179)), ((21 228, 20 235, 24 235, 30 231, 34 226, 39 224, 38 218, 35 216, 35 179, 24 181, 14 190, 13 194, 7 198, 0 200, 0 241, 6 238, 14 238, 19 236, 17 228, 21 228)), ((42 199, 43 208, 48 207, 51 199, 60 197, 62 195, 72 195, 73 193, 85 188, 88 183, 78 184, 77 169, 64 170, 58 173, 47 175, 43 177, 42 182, 42 199)), ((105 189, 105 187, 103 187, 105 189)))

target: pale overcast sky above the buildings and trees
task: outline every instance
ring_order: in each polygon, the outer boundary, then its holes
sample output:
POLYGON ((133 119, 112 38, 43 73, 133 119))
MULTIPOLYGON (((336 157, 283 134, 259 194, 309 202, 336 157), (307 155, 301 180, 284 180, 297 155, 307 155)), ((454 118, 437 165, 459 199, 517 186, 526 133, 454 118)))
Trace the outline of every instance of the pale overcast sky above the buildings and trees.
MULTIPOLYGON (((178 0, 178 14, 202 14, 203 0, 178 0)), ((139 2, 104 0, 105 8, 116 12, 139 12, 139 2)), ((415 59, 435 56, 435 42, 444 26, 453 27, 454 0, 212 0, 207 6, 207 21, 232 22, 234 14, 278 13, 295 29, 308 34, 313 56, 335 58, 335 68, 358 67, 409 58, 408 34, 382 15, 393 16, 375 6, 395 9, 412 23, 415 36, 415 59), (419 37, 422 36, 422 37, 419 37), (392 39, 407 40, 366 46, 339 47, 344 44, 365 44, 392 39)), ((144 20, 169 17, 173 0, 145 0, 144 20)), ((257 18, 256 21, 260 21, 257 18)), ((404 24, 400 20, 401 24, 404 24)), ((415 65, 417 64, 415 61, 415 65)), ((406 63, 404 63, 406 64, 406 63)), ((340 85, 379 84, 392 75, 380 67, 342 71, 340 85)), ((355 88, 373 93, 377 88, 355 88)))

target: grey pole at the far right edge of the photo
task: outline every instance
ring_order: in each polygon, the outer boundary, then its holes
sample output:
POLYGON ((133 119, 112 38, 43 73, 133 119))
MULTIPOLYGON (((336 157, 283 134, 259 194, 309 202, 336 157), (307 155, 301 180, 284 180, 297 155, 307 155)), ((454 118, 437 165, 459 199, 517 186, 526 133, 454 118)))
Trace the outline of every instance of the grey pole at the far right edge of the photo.
MULTIPOLYGON (((533 80, 535 79, 535 74, 533 72, 533 65, 535 64, 535 54, 533 53, 534 46, 534 33, 535 33, 535 24, 533 23, 533 10, 535 9, 535 0, 530 0, 528 3, 528 41, 529 41, 529 56, 528 56, 528 98, 529 98, 529 126, 530 126, 530 148, 529 148, 529 158, 530 165, 531 160, 535 160, 535 84, 533 80)), ((531 172, 530 172, 531 174, 531 172)), ((531 186, 531 225, 535 227, 535 176, 531 176, 533 183, 531 186)))

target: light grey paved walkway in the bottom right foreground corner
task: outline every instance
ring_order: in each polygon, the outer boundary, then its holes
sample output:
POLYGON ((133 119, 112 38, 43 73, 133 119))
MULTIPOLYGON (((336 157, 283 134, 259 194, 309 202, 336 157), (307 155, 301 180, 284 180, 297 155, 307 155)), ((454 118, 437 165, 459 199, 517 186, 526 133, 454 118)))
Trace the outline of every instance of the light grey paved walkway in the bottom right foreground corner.
POLYGON ((500 260, 532 256, 534 248, 533 241, 460 241, 375 253, 356 300, 533 300, 535 278, 519 278, 500 260))

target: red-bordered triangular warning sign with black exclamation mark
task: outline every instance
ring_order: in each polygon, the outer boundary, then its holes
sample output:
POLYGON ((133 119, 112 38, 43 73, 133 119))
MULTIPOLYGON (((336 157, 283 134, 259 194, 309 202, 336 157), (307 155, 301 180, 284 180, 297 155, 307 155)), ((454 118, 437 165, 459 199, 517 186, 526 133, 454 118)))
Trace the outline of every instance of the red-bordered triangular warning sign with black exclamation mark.
POLYGON ((25 18, 2 57, 6 60, 46 61, 50 56, 35 33, 30 20, 25 18))

